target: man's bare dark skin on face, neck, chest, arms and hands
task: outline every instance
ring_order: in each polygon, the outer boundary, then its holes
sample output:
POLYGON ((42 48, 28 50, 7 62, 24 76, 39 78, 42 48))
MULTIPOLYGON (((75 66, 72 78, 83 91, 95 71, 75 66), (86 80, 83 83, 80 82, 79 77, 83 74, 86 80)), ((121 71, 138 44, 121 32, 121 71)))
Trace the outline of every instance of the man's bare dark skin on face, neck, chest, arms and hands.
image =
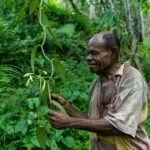
MULTIPOLYGON (((106 43, 102 38, 103 34, 105 34, 105 32, 96 34, 89 41, 87 62, 91 72, 102 76, 102 89, 104 95, 103 103, 107 105, 110 103, 110 97, 114 92, 114 74, 120 67, 120 64, 116 57, 116 53, 119 50, 115 46, 112 47, 111 50, 108 50, 106 43)), ((100 114, 100 119, 91 120, 86 113, 76 110, 63 97, 57 94, 52 94, 52 99, 59 102, 69 114, 69 116, 66 116, 61 112, 50 111, 48 118, 54 128, 76 128, 96 132, 106 136, 125 135, 103 118, 107 110, 100 114)))

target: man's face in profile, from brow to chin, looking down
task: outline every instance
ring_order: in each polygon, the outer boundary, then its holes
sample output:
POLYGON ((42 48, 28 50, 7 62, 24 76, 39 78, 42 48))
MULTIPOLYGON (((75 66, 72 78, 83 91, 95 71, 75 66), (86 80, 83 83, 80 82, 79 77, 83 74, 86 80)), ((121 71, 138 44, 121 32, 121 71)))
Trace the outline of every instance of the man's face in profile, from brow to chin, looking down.
POLYGON ((91 72, 101 74, 112 65, 112 52, 106 46, 89 44, 87 61, 91 72))

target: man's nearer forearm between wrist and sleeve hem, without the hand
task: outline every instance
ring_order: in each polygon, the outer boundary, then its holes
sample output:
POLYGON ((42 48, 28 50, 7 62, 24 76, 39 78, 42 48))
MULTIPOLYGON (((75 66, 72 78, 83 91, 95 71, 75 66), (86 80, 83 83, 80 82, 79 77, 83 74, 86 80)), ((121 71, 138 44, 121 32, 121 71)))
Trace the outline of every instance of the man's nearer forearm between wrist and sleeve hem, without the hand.
POLYGON ((122 133, 121 131, 117 130, 105 119, 89 120, 89 119, 71 118, 68 127, 96 132, 99 133, 100 135, 106 136, 125 135, 125 133, 122 133))

